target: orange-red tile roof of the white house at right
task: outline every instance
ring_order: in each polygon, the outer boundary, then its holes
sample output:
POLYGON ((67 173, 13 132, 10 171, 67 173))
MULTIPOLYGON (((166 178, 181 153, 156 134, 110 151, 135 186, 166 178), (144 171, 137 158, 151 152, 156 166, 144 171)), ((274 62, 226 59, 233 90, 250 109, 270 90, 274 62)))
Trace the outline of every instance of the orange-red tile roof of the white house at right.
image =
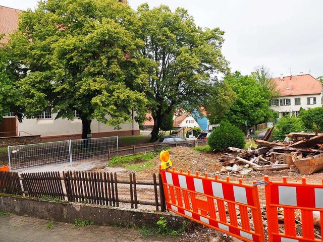
POLYGON ((276 90, 279 90, 281 96, 320 94, 322 84, 309 74, 274 78, 277 84, 276 90), (288 90, 287 90, 288 89, 288 90))

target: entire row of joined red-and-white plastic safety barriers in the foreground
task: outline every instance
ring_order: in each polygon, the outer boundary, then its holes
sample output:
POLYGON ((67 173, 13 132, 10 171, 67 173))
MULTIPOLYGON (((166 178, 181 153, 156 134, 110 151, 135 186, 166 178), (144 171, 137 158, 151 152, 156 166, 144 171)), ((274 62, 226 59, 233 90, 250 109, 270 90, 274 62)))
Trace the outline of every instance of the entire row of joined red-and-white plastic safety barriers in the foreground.
MULTIPOLYGON (((270 181, 267 176, 259 184, 265 185, 267 234, 264 236, 263 219, 256 185, 239 183, 176 171, 161 170, 166 206, 175 212, 205 226, 233 235, 244 241, 309 242, 323 241, 314 233, 313 211, 323 219, 322 184, 270 181), (284 224, 278 215, 284 214, 284 224), (237 214, 240 215, 238 219, 237 214), (297 216, 299 216, 297 217, 297 216), (296 226, 295 220, 301 220, 296 226), (301 227, 301 229, 299 229, 301 227), (300 231, 301 230, 301 231, 300 231)), ((315 216, 314 216, 315 217, 315 216)), ((319 223, 320 230, 323 225, 319 223)))

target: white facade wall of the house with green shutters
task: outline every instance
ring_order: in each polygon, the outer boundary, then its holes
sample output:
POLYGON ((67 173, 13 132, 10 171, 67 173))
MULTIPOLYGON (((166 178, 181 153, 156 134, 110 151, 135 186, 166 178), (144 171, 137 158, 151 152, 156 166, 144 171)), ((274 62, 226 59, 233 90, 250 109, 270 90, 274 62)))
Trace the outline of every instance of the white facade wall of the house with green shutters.
POLYGON ((308 108, 314 108, 314 107, 321 107, 321 98, 322 94, 315 94, 315 95, 295 95, 295 96, 284 96, 284 97, 279 97, 278 99, 291 99, 291 105, 286 105, 286 106, 271 106, 271 108, 275 111, 280 112, 279 117, 282 116, 282 112, 294 112, 294 111, 299 111, 299 109, 302 107, 303 109, 308 109, 308 108), (308 97, 316 97, 316 104, 309 104, 307 105, 307 98, 308 97), (301 105, 295 105, 295 98, 300 98, 301 99, 301 105))

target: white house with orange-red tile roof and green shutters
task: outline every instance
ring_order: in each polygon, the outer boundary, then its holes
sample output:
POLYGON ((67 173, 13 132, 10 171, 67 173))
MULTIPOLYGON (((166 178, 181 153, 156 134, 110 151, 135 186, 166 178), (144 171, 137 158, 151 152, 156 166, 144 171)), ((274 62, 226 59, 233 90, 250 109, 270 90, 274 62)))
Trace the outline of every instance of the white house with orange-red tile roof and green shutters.
POLYGON ((283 115, 299 113, 299 109, 322 106, 322 84, 309 74, 274 78, 280 97, 272 100, 271 108, 283 115))

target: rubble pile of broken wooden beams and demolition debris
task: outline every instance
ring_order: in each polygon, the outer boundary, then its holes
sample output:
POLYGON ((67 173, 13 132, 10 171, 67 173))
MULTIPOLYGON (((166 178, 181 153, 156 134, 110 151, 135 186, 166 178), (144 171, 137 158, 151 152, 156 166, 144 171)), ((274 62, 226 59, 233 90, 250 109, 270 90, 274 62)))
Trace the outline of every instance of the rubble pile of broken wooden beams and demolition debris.
POLYGON ((242 150, 229 147, 230 153, 219 157, 221 172, 248 172, 291 169, 301 174, 312 174, 323 169, 323 134, 290 133, 284 142, 268 142, 273 129, 268 129, 263 140, 255 140, 257 148, 242 150))

